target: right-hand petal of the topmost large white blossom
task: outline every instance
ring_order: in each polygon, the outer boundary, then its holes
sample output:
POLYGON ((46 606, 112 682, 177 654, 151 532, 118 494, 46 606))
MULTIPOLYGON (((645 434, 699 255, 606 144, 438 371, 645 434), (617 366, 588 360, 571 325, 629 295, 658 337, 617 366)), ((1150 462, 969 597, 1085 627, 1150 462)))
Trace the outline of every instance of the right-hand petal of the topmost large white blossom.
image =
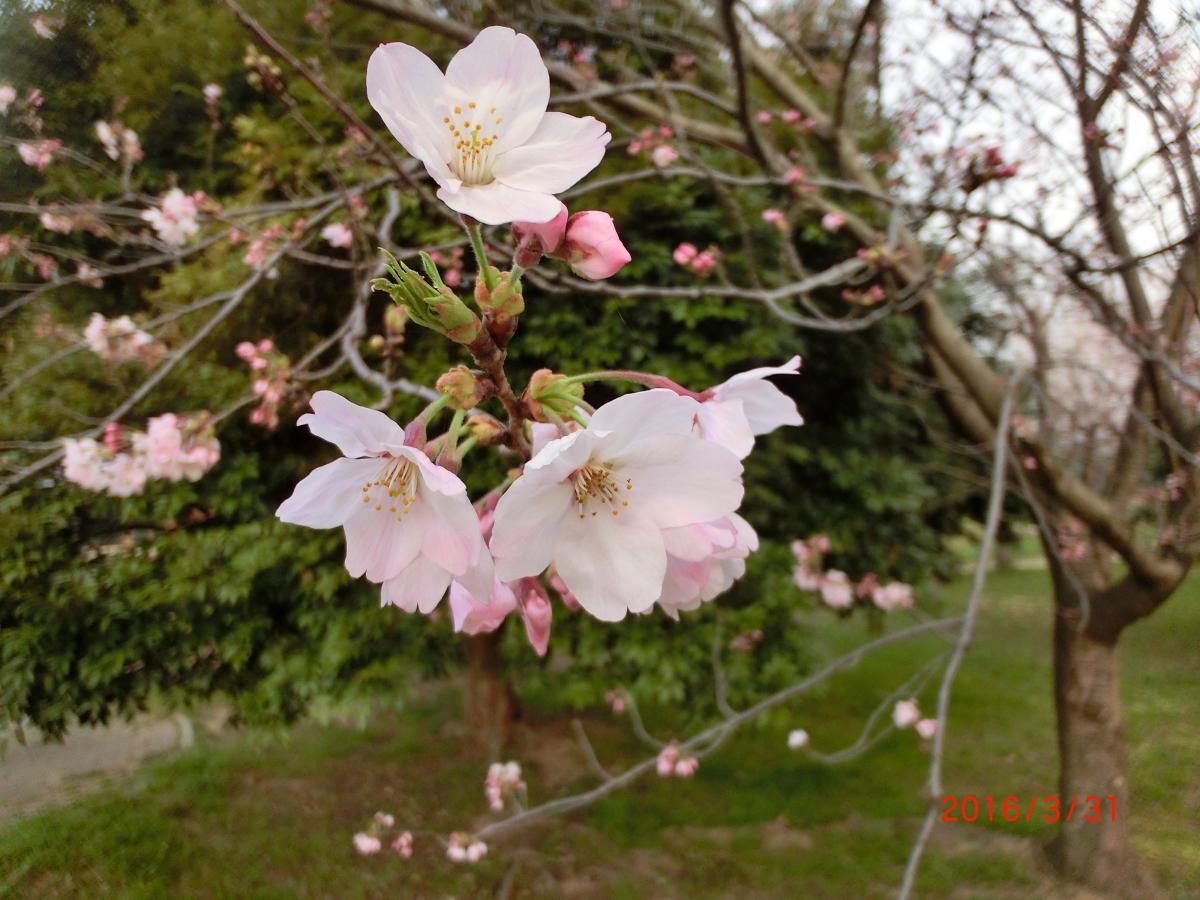
POLYGON ((611 139, 605 124, 590 115, 546 113, 524 144, 496 160, 492 173, 521 191, 560 193, 600 164, 611 139))

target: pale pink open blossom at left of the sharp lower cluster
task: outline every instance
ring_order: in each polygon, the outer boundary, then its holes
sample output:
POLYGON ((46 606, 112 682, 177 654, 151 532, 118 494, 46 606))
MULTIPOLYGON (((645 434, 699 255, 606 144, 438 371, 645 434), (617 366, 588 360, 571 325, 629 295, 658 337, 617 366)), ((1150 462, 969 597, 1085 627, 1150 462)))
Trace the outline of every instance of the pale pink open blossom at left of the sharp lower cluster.
POLYGON ((346 569, 383 583, 384 604, 427 613, 451 578, 486 596, 492 558, 462 481, 383 413, 332 391, 318 391, 311 404, 298 424, 344 458, 308 474, 276 515, 308 528, 342 527, 346 569))

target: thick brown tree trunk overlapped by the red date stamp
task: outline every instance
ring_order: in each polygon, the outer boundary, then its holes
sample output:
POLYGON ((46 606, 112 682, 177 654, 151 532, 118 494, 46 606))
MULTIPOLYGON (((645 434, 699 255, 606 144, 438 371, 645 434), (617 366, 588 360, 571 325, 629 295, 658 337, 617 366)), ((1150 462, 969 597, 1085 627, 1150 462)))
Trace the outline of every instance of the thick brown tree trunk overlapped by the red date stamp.
POLYGON ((1106 894, 1157 892, 1129 842, 1129 782, 1117 643, 1081 634, 1063 616, 1054 629, 1058 719, 1058 835, 1050 854, 1061 874, 1106 894), (1068 811, 1070 818, 1068 821, 1068 811), (1096 821, 1091 821, 1096 820, 1096 821))

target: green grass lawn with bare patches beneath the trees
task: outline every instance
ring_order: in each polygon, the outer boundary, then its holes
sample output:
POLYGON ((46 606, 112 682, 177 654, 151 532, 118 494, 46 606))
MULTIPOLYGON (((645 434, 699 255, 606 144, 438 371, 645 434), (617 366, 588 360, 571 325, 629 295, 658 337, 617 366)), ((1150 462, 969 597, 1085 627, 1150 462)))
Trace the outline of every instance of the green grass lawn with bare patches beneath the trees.
MULTIPOLYGON (((937 602, 961 602, 954 584, 937 602)), ((805 614, 828 656, 869 640, 865 623, 805 614)), ((954 794, 1056 793, 1050 610, 1037 571, 992 575, 947 733, 954 794)), ((1200 896, 1200 580, 1124 642, 1133 833, 1172 896, 1200 896)), ((70 806, 0 830, 0 896, 290 898, 875 898, 900 881, 923 812, 928 756, 910 731, 824 767, 791 754, 790 727, 821 750, 943 644, 888 648, 785 715, 748 727, 691 781, 646 779, 587 812, 493 844, 478 866, 418 836, 413 859, 358 857, 371 814, 446 833, 487 821, 485 760, 462 749, 452 685, 365 728, 306 725, 286 743, 200 744, 70 806)), ((922 696, 934 708, 934 686, 922 696)), ((652 730, 660 719, 646 710, 652 730)), ((601 758, 643 755, 624 722, 587 720, 601 758)), ((569 720, 528 710, 518 745, 534 802, 592 784, 569 720)), ((1121 810, 1120 815, 1127 811, 1121 810)), ((940 823, 920 896, 1085 896, 1042 864, 1049 826, 940 823)))

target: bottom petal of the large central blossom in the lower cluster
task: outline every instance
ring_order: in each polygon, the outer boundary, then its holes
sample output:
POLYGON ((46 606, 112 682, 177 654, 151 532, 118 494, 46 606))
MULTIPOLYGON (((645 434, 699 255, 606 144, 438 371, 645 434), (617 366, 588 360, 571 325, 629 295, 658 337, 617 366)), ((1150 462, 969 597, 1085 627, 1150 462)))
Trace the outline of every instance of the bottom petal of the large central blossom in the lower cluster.
POLYGON ((632 506, 619 516, 565 516, 554 568, 580 605, 604 622, 649 608, 662 590, 662 533, 632 506))

